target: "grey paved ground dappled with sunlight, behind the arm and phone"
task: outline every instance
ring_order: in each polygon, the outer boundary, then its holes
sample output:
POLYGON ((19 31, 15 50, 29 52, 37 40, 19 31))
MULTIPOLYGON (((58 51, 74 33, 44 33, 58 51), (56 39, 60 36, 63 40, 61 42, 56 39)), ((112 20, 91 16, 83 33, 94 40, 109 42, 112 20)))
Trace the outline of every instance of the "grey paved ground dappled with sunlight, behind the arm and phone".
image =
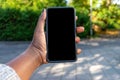
MULTIPOLYGON (((29 42, 0 42, 0 62, 26 49, 29 42)), ((83 40, 77 62, 42 65, 30 80, 120 80, 120 39, 83 40)))

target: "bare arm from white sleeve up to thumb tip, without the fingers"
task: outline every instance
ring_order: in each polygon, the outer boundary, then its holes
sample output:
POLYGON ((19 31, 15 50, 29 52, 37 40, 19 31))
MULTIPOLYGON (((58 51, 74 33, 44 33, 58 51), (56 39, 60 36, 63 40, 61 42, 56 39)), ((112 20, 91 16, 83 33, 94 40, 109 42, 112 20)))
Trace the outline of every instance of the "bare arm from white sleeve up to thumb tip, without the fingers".
POLYGON ((33 71, 46 61, 46 39, 44 34, 44 23, 46 11, 44 10, 38 20, 31 45, 17 58, 8 62, 22 80, 29 80, 33 71))

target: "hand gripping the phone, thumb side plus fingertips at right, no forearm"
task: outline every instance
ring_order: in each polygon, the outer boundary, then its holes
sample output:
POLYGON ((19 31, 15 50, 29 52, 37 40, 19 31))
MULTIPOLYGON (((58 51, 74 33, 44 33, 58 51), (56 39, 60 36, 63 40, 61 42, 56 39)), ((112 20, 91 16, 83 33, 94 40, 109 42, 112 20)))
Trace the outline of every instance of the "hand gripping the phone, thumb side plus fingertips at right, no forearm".
MULTIPOLYGON (((39 58, 42 59, 42 64, 47 63, 46 61, 46 38, 45 38, 45 32, 44 32, 44 25, 45 25, 45 19, 46 19, 46 10, 42 12, 35 32, 33 36, 33 40, 31 43, 31 46, 35 49, 34 51, 39 55, 39 58)), ((77 17, 76 17, 77 20, 77 17)), ((76 28, 77 33, 81 33, 84 31, 84 27, 79 26, 76 28)), ((76 43, 80 42, 80 38, 75 38, 76 43)), ((81 49, 77 49, 77 54, 81 52, 81 49)))

